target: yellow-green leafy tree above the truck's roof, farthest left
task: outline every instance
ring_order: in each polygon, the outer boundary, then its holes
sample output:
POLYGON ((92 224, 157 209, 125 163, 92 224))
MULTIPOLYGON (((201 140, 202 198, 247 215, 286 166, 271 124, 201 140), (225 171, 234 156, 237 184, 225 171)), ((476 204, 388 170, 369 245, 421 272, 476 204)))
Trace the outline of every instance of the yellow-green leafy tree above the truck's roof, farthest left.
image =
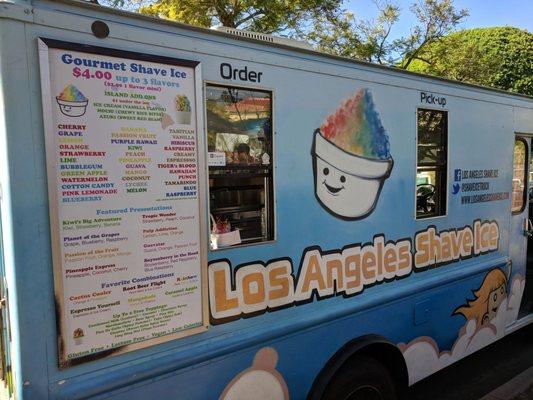
MULTIPOLYGON (((104 0, 191 25, 224 25, 262 33, 299 36, 316 18, 333 20, 343 0, 104 0)), ((102 2, 102 1, 101 1, 102 2)), ((102 4, 104 4, 102 2, 102 4)))

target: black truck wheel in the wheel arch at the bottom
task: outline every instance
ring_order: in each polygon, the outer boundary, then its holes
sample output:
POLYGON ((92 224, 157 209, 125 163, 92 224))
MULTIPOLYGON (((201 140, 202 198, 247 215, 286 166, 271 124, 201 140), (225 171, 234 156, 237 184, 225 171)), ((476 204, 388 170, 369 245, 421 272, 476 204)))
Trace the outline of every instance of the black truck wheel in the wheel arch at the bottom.
POLYGON ((396 400, 396 385, 380 362, 357 356, 331 378, 322 400, 396 400))

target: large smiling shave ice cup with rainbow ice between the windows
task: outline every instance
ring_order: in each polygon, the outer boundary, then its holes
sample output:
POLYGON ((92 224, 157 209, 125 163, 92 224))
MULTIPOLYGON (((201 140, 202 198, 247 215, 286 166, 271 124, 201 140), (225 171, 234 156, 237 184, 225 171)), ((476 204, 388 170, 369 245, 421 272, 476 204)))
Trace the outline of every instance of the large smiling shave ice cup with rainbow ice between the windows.
POLYGON ((315 195, 327 211, 355 220, 374 210, 393 160, 370 90, 361 89, 326 118, 315 131, 312 155, 315 195))

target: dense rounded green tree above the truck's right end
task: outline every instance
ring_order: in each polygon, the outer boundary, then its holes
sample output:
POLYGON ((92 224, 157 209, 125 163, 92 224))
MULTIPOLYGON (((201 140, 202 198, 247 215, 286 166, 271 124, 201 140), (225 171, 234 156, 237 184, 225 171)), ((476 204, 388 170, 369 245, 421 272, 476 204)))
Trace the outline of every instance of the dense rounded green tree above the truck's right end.
POLYGON ((408 69, 533 95, 533 34, 512 27, 454 32, 425 47, 408 69))

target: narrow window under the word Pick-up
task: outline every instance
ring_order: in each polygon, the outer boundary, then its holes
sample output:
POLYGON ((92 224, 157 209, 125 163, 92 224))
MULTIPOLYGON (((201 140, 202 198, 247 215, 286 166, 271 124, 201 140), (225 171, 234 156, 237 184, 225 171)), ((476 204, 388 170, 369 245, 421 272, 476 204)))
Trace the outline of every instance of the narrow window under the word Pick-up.
POLYGON ((417 110, 416 217, 446 214, 448 113, 417 110))

